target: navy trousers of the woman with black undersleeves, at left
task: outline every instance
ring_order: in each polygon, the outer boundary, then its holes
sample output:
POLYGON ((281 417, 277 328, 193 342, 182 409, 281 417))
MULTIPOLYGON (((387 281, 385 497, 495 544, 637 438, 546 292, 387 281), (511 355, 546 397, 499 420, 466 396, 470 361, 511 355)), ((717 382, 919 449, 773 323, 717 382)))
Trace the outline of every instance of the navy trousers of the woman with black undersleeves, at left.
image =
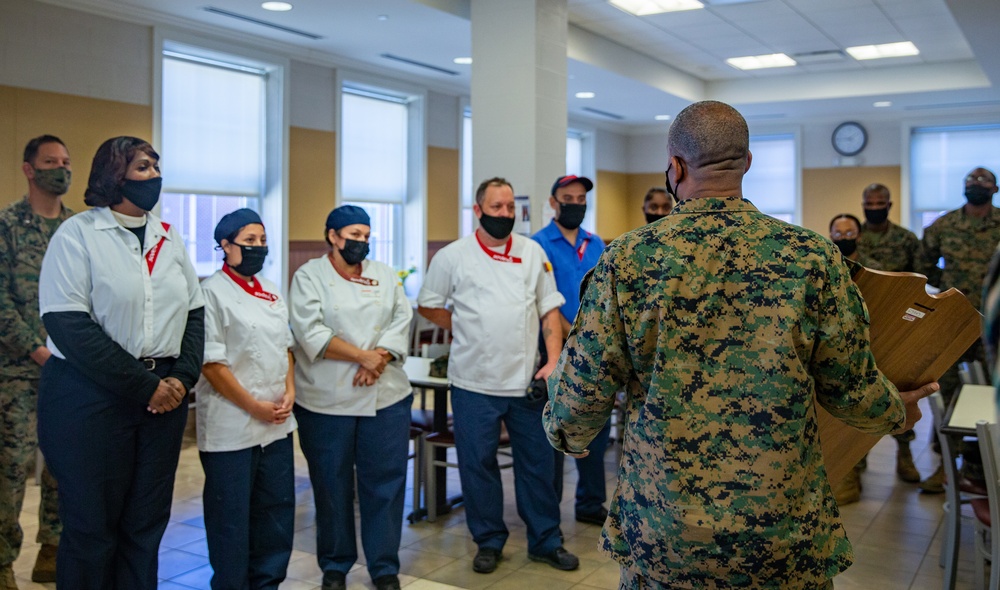
POLYGON ((38 442, 59 482, 60 588, 156 588, 187 412, 185 399, 150 413, 64 360, 45 363, 38 442))

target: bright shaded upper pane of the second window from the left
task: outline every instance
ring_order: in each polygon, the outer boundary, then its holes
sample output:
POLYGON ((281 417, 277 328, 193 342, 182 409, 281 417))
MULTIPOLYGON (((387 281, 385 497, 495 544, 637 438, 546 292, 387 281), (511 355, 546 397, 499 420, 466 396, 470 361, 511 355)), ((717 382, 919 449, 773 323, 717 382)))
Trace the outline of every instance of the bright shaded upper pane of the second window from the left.
POLYGON ((344 195, 352 201, 402 203, 406 196, 406 105, 348 92, 342 96, 344 195))

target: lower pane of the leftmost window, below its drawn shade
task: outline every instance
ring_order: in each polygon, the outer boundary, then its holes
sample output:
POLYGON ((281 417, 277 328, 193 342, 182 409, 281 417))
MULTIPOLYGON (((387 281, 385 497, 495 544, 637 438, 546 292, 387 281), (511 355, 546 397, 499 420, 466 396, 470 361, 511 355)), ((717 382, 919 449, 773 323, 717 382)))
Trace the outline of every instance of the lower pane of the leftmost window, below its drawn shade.
POLYGON ((222 268, 223 253, 216 249, 215 226, 223 215, 244 207, 260 212, 260 199, 167 192, 160 197, 160 217, 180 232, 200 277, 222 268))

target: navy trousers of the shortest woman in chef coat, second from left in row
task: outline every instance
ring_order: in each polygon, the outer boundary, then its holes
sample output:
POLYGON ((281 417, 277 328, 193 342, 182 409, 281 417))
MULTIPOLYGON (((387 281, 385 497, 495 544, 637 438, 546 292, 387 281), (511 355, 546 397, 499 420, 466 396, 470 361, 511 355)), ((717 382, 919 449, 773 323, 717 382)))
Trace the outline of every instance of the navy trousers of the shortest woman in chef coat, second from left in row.
POLYGON ((277 588, 295 534, 292 435, 266 447, 199 456, 212 590, 277 588))

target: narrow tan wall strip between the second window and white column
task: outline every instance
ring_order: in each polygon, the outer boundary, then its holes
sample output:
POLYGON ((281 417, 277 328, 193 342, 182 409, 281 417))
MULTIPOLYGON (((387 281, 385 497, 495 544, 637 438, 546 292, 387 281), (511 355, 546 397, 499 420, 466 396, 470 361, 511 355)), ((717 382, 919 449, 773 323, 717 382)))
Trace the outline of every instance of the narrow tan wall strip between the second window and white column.
POLYGON ((427 241, 458 239, 458 150, 427 148, 427 241))

